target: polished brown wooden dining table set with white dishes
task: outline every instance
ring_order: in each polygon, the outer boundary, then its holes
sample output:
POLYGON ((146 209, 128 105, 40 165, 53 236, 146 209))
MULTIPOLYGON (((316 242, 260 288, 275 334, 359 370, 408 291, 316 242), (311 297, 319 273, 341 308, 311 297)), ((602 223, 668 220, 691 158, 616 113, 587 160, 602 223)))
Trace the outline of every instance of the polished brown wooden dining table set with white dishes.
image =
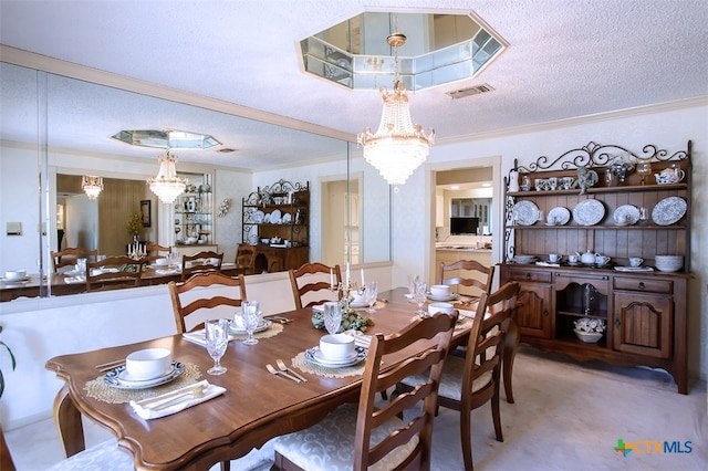
MULTIPOLYGON (((377 304, 383 307, 373 314, 363 313, 375 323, 367 334, 397 332, 415 318, 416 305, 405 299, 405 289, 395 289, 379 294, 382 302, 377 304)), ((86 384, 101 377, 96 365, 125 358, 137 349, 165 347, 173 352, 174 359, 206 371, 214 360, 204 346, 175 335, 51 358, 46 368, 65 381, 54 401, 54 418, 66 456, 84 449, 84 415, 115 435, 118 446, 133 454, 136 469, 208 469, 242 457, 271 438, 310 427, 344 402, 357 401, 361 374, 332 377, 296 370, 308 381, 294 383, 266 369, 279 358, 290 366, 299 353, 319 344, 324 332, 313 327, 312 314, 312 308, 279 314, 292 322, 257 345, 231 341, 221 359, 228 371, 201 378, 226 388, 226 393, 159 419, 143 420, 128 404, 90 397, 86 384)), ((462 342, 468 329, 456 329, 454 339, 462 342)), ((415 348, 409 349, 393 362, 415 353, 415 348)))

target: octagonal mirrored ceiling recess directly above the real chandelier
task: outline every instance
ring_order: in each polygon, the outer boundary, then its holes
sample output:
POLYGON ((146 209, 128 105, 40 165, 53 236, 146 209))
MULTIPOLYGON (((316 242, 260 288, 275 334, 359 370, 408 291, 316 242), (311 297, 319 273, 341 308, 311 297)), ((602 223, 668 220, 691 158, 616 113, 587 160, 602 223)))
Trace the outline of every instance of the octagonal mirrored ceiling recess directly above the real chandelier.
POLYGON ((350 88, 391 86, 394 32, 407 38, 398 78, 412 91, 473 77, 508 46, 471 13, 364 12, 301 41, 304 70, 350 88))

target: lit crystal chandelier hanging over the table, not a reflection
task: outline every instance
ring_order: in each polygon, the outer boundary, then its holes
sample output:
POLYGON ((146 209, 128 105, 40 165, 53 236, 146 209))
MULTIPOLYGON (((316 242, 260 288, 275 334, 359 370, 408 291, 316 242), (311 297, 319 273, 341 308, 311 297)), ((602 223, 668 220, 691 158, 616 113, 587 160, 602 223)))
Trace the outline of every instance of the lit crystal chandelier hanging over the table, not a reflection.
POLYGON ((369 127, 357 135, 358 145, 364 147, 364 158, 384 177, 388 185, 403 185, 410 174, 425 161, 435 140, 435 129, 423 130, 413 125, 406 87, 398 80, 398 48, 406 43, 406 36, 394 32, 386 38, 394 48, 394 90, 387 93, 381 87, 384 111, 376 134, 369 127))

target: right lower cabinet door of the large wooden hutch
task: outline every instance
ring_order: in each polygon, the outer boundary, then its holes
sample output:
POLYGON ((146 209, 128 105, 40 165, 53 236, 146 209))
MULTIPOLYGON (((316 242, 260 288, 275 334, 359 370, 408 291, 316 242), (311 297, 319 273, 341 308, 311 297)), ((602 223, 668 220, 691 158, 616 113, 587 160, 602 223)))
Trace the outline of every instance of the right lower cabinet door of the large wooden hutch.
POLYGON ((620 352, 671 357, 674 302, 668 296, 616 293, 614 346, 620 352))

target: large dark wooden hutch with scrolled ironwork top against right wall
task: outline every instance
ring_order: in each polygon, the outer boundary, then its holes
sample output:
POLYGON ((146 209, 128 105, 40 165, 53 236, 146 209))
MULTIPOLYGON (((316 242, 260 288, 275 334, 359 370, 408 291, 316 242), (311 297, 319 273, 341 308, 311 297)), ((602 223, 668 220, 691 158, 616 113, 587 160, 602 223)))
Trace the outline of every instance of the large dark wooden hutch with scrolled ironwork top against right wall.
POLYGON ((517 174, 518 191, 509 191, 510 179, 504 178, 500 281, 521 285, 516 318, 521 342, 579 360, 663 368, 674 376, 678 393, 688 394, 691 142, 674 154, 647 145, 641 155, 590 143, 555 159, 542 156, 516 167, 510 177, 517 174), (655 174, 667 168, 684 178, 658 184, 655 174), (597 179, 584 191, 577 184, 569 189, 560 185, 562 177, 575 180, 591 170, 597 179), (548 185, 553 178, 555 185, 548 185), (535 189, 537 179, 545 180, 548 189, 535 189), (543 214, 550 212, 561 217, 549 221, 543 214), (611 261, 603 266, 580 260, 569 264, 568 254, 587 251, 611 261), (552 264, 550 253, 565 257, 552 264), (680 255, 684 265, 659 271, 658 254, 680 255), (628 268, 632 257, 643 258, 644 264, 628 268), (583 317, 605 323, 598 342, 576 338, 574 321, 583 317))

